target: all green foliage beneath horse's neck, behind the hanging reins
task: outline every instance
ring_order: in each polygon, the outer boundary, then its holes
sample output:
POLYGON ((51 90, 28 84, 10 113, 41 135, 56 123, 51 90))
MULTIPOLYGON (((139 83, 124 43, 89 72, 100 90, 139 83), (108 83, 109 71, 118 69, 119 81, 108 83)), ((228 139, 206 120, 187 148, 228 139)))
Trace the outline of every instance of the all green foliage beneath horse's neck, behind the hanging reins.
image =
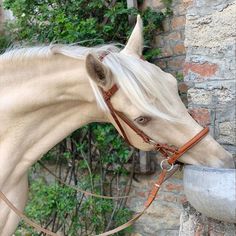
MULTIPOLYGON (((113 126, 90 124, 48 152, 43 163, 50 169, 56 166, 54 173, 71 186, 115 196, 125 194, 132 180, 125 167, 132 154, 133 150, 117 135, 113 126)), ((58 181, 52 181, 51 177, 48 180, 39 163, 31 172, 26 214, 44 227, 49 226, 54 231, 60 229, 71 236, 94 235, 115 228, 132 217, 124 200, 112 201, 77 193, 58 181), (40 178, 35 180, 32 177, 35 175, 40 178)), ((129 227, 116 235, 131 231, 132 227, 129 227)), ((16 235, 27 234, 37 235, 21 222, 16 235)))

